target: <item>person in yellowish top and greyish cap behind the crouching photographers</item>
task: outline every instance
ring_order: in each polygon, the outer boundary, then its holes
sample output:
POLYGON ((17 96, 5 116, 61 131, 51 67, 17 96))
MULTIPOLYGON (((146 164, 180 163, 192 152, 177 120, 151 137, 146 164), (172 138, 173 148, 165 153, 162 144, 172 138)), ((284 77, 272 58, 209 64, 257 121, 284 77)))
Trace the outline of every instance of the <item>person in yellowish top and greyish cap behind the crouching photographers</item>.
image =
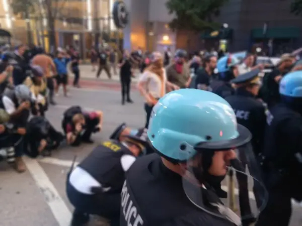
POLYGON ((28 76, 24 84, 30 89, 32 99, 37 103, 37 115, 44 116, 47 110, 47 86, 43 80, 44 71, 38 65, 31 66, 31 75, 28 76))

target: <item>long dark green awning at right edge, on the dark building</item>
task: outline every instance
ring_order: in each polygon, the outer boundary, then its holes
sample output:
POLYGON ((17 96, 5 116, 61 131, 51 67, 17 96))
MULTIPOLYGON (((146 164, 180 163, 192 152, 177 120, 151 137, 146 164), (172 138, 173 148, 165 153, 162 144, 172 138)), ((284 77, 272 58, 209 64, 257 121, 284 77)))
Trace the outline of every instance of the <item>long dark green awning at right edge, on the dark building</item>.
POLYGON ((254 39, 292 39, 298 37, 300 37, 300 29, 296 27, 268 28, 266 34, 263 34, 263 28, 252 30, 252 38, 254 39))

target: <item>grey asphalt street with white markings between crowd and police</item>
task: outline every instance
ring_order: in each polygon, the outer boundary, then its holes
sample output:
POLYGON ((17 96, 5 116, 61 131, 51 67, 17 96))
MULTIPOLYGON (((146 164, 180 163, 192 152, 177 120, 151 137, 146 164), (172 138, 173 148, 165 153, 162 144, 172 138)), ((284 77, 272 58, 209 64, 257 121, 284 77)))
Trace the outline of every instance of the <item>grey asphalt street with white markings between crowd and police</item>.
MULTIPOLYGON (((93 135, 95 144, 77 148, 63 144, 51 157, 25 158, 28 170, 23 174, 0 162, 1 226, 68 226, 73 208, 65 194, 65 180, 74 156, 77 162, 81 161, 123 122, 132 128, 144 125, 143 100, 136 90, 132 93, 134 103, 121 105, 118 84, 108 87, 96 84, 98 82, 93 80, 85 83, 82 89, 70 88, 71 96, 56 97, 57 105, 51 106, 46 115, 54 127, 62 131, 62 113, 67 107, 81 105, 87 111, 102 110, 103 130, 93 135)), ((302 207, 295 205, 290 226, 302 224, 301 213, 302 207)), ((94 217, 90 225, 107 224, 94 217)))

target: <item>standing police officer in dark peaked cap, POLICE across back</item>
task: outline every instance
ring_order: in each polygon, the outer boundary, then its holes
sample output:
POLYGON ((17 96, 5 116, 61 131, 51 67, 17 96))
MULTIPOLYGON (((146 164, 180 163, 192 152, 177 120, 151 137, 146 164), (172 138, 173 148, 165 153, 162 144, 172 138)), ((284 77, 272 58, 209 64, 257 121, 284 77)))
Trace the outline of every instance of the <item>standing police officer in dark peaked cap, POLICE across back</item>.
POLYGON ((256 99, 261 87, 258 76, 260 72, 260 69, 255 69, 231 80, 236 85, 236 92, 225 98, 233 107, 237 122, 252 133, 252 145, 256 154, 261 152, 266 124, 265 107, 256 99))

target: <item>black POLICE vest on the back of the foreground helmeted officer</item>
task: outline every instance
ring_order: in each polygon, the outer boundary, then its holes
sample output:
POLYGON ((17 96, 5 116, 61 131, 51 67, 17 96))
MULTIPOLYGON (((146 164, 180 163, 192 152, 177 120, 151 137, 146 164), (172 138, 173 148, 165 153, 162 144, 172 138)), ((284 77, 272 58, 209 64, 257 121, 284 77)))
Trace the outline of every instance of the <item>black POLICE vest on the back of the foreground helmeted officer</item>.
POLYGON ((163 167, 157 154, 133 163, 121 192, 121 226, 234 226, 191 203, 181 176, 163 167))

